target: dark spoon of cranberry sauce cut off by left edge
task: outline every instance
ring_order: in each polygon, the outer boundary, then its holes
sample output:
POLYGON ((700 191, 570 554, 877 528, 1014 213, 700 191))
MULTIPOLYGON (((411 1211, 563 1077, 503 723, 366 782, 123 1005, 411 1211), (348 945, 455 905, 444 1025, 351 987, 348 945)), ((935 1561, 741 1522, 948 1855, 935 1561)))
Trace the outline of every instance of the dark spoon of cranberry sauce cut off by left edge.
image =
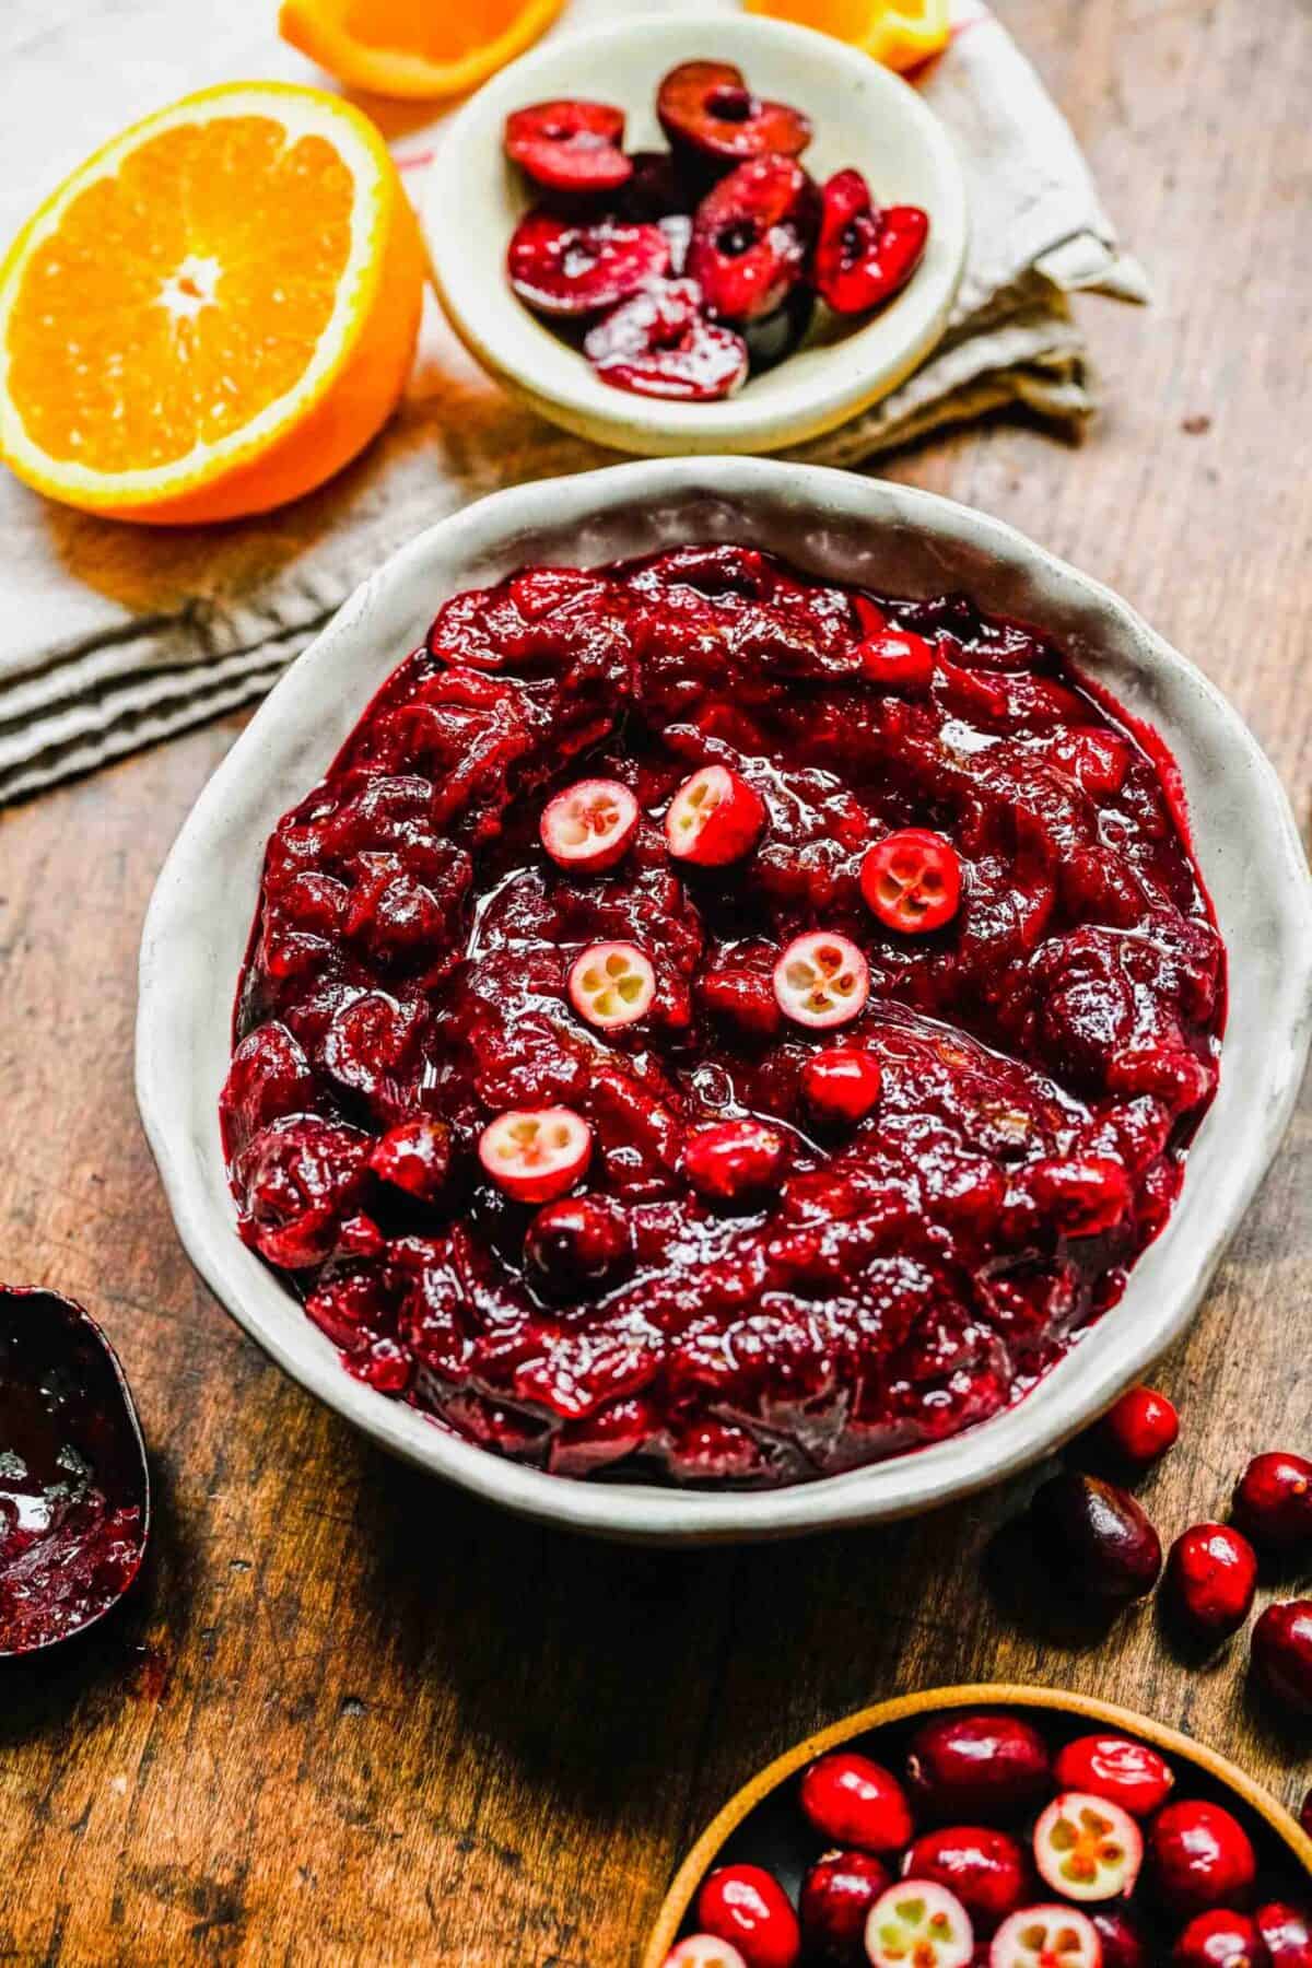
POLYGON ((53 1291, 0 1287, 0 1655, 108 1612, 146 1529, 142 1435, 98 1328, 53 1291))

